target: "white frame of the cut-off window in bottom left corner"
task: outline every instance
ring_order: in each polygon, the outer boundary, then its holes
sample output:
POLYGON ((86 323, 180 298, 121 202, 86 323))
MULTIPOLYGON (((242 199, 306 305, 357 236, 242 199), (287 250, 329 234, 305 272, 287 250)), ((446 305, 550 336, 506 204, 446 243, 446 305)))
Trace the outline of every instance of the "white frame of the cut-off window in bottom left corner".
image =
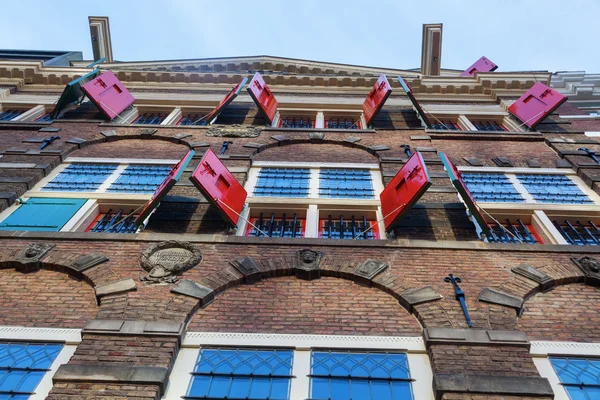
POLYGON ((77 346, 81 343, 81 329, 30 328, 21 326, 0 326, 0 341, 24 343, 60 343, 62 350, 35 388, 29 400, 44 400, 52 389, 52 377, 58 367, 69 362, 77 346))

